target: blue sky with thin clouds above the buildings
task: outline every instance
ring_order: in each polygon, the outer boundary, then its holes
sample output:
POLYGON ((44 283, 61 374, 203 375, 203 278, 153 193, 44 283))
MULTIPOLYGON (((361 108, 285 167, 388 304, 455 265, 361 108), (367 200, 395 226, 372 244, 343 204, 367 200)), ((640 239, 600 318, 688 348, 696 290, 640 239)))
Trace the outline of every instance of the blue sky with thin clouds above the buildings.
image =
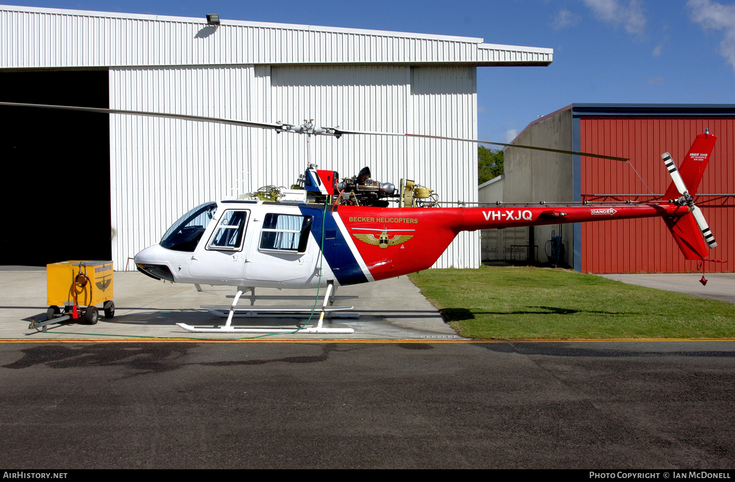
POLYGON ((343 26, 551 47, 549 67, 478 68, 479 136, 573 102, 735 104, 735 2, 713 0, 20 1, 34 7, 343 26))

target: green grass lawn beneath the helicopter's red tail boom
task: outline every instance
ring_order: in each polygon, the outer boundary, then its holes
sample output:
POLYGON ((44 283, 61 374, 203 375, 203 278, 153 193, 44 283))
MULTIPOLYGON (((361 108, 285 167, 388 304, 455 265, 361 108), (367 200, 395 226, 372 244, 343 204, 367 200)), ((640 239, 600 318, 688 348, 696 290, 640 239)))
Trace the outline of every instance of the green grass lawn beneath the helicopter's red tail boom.
POLYGON ((427 269, 409 277, 474 339, 733 338, 735 305, 565 269, 427 269))

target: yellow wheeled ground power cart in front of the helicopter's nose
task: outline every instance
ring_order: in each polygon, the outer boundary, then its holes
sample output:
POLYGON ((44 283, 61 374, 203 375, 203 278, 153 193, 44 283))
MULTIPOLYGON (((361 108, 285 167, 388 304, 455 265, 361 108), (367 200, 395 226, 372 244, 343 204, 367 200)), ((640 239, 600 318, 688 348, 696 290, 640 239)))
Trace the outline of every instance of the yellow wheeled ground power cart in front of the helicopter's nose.
POLYGON ((98 320, 102 305, 104 317, 115 316, 112 302, 112 261, 60 261, 46 265, 46 293, 49 310, 46 319, 62 322, 84 319, 90 325, 98 320), (61 313, 59 305, 63 306, 61 313))

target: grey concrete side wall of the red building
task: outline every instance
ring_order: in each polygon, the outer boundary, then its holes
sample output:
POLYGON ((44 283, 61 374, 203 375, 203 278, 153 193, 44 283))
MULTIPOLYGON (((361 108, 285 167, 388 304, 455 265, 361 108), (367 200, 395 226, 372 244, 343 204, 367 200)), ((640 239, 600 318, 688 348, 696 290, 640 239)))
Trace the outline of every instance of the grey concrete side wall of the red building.
MULTIPOLYGON (((513 143, 572 150, 572 135, 572 112, 564 110, 530 124, 514 139, 513 143)), ((574 200, 571 155, 509 147, 504 157, 503 202, 536 204, 540 201, 571 202, 574 200)), ((552 230, 555 235, 559 235, 559 224, 523 229, 534 230, 534 244, 538 246, 538 261, 548 262, 547 241, 551 239, 552 230)), ((561 230, 564 262, 561 263, 560 260, 560 264, 571 266, 573 261, 570 257, 570 253, 573 252, 572 224, 565 224, 561 230)))

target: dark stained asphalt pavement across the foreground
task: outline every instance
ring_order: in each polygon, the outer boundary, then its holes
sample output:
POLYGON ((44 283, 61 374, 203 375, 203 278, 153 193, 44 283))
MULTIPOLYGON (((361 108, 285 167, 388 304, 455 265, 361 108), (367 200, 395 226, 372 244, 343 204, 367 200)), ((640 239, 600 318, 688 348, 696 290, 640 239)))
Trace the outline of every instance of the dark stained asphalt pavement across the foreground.
POLYGON ((0 343, 0 466, 735 465, 735 342, 0 343))

